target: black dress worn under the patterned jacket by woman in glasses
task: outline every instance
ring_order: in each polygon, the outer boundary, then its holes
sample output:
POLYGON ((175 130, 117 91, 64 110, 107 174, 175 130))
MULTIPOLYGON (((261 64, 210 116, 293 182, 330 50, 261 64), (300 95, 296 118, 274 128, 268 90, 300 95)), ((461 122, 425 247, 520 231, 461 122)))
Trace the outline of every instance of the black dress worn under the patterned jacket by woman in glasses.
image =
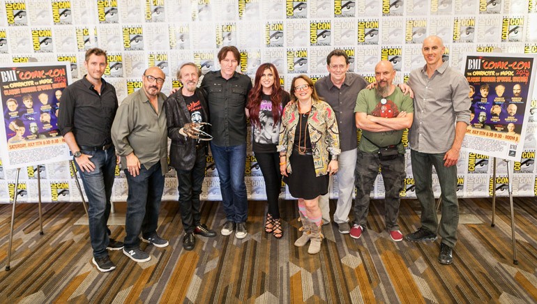
POLYGON ((294 134, 293 153, 289 157, 293 173, 287 177, 284 176, 283 181, 289 186, 289 192, 293 197, 315 199, 319 195, 328 193, 330 176, 328 174, 315 176, 310 133, 305 132, 305 130, 308 130, 306 126, 309 113, 300 115, 302 116, 301 121, 296 125, 294 134), (304 146, 305 154, 299 153, 298 149, 304 151, 304 146))

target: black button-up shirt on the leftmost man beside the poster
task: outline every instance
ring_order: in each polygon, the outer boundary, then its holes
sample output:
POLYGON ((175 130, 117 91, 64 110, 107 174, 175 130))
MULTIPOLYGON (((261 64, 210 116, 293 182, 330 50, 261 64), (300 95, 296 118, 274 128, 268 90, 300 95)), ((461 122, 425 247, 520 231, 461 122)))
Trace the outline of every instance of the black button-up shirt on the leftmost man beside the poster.
POLYGON ((86 75, 63 90, 58 128, 61 135, 73 132, 79 146, 112 143, 110 128, 118 107, 116 89, 105 79, 101 82, 100 95, 86 75))

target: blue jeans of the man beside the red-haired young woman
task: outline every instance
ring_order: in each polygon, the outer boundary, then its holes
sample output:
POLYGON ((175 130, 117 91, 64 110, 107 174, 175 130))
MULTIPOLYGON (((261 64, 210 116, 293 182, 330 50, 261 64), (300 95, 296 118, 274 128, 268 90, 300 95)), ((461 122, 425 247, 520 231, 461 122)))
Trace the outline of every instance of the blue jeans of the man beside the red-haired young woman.
POLYGON ((248 197, 244 183, 246 144, 216 146, 211 142, 211 152, 220 178, 220 192, 226 218, 232 222, 246 222, 248 218, 248 197))

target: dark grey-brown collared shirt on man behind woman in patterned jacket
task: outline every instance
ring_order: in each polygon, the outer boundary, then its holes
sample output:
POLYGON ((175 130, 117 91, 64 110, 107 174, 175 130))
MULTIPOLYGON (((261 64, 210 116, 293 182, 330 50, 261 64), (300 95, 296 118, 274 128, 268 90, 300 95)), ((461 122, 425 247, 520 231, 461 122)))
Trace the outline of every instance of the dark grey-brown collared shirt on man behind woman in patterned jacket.
POLYGON ((322 77, 315 82, 317 94, 328 102, 335 112, 340 130, 341 151, 356 149, 356 121, 354 120, 354 106, 356 98, 368 82, 358 74, 346 73, 341 88, 335 86, 330 75, 322 77))

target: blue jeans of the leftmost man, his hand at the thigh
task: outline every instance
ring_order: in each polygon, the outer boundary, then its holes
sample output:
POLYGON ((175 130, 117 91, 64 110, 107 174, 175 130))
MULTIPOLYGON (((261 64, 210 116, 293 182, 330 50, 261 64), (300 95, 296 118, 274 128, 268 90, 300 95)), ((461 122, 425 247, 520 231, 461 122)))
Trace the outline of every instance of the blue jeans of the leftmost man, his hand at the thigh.
POLYGON ((82 172, 75 160, 84 191, 88 197, 89 238, 91 239, 91 248, 93 248, 93 257, 104 257, 108 255, 106 247, 110 231, 106 224, 112 206, 110 196, 114 185, 116 151, 112 146, 106 151, 81 150, 80 152, 91 155, 89 160, 95 165, 92 172, 82 172))

